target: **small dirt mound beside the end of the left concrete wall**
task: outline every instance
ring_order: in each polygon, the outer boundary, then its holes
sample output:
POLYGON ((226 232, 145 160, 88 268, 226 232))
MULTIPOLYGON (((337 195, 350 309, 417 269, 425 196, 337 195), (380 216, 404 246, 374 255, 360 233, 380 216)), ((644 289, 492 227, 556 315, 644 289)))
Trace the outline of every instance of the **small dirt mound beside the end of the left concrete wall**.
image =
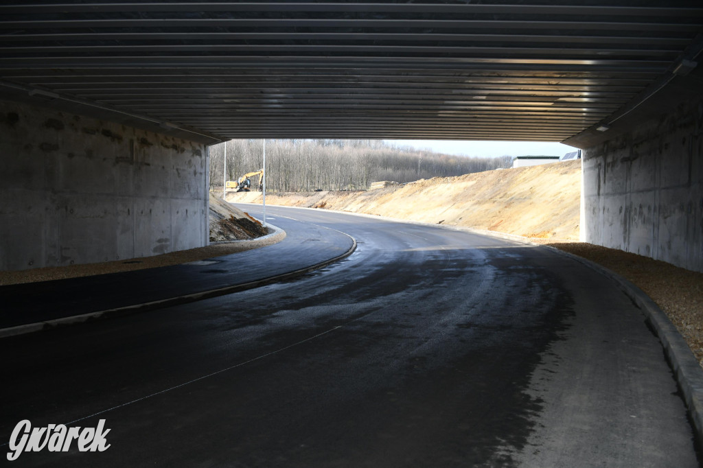
POLYGON ((258 219, 210 194, 210 242, 246 240, 266 235, 268 231, 258 219))

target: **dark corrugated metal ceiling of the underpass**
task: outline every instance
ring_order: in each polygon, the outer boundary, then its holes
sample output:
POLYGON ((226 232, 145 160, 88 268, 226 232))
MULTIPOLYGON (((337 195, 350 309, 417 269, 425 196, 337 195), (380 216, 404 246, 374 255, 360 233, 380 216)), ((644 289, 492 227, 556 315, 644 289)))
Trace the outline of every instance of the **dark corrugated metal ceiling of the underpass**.
POLYGON ((0 17, 0 96, 206 139, 562 141, 703 31, 690 1, 25 1, 0 17))

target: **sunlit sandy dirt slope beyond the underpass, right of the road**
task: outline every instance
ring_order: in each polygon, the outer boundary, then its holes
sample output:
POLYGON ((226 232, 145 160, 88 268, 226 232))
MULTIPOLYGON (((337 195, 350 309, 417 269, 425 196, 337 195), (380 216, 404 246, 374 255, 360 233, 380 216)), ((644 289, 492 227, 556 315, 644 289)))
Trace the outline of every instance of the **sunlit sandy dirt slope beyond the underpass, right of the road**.
MULTIPOLYGON (((271 193, 266 203, 578 240, 580 198, 581 161, 575 160, 364 192, 271 193)), ((230 193, 227 201, 260 203, 261 194, 230 193)))

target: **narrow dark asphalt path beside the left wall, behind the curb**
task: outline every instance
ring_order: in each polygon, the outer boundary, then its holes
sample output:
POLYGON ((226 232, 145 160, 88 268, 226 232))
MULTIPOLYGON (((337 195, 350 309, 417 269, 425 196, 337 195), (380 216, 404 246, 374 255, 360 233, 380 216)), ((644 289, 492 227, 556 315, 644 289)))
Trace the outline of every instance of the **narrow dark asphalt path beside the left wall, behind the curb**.
POLYGON ((257 282, 324 263, 348 252, 352 244, 349 235, 308 223, 289 230, 285 239, 264 250, 160 268, 1 286, 0 328, 257 282), (264 252, 266 258, 261 256, 264 252))

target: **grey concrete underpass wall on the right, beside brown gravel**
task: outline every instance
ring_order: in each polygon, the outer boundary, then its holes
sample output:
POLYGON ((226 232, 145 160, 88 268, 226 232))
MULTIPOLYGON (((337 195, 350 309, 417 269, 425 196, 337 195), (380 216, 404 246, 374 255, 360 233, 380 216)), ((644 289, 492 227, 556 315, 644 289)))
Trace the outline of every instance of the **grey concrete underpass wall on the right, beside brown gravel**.
POLYGON ((583 152, 581 239, 703 271, 703 100, 583 152))

